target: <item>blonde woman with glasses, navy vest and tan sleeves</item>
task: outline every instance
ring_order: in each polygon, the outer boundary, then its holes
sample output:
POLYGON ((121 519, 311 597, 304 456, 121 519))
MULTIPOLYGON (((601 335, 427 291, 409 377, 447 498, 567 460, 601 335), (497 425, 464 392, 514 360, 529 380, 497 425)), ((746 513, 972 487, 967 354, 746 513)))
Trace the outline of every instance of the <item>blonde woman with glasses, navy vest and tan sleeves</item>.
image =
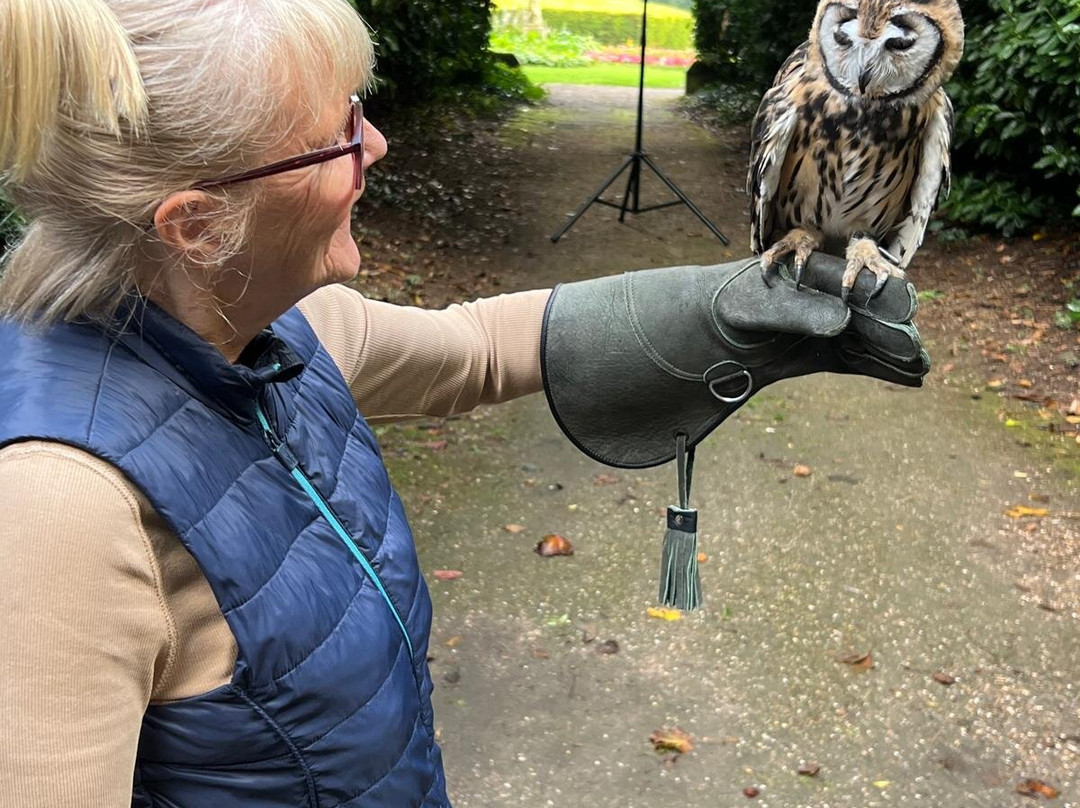
MULTIPOLYGON (((0 52, 30 221, 0 284, 0 804, 448 805, 431 604, 357 407, 539 390, 550 293, 426 312, 337 285, 387 150, 345 0, 4 0, 0 52)), ((814 300, 827 328, 762 327, 851 336, 814 300)), ((867 372, 793 345, 759 381, 867 372)))

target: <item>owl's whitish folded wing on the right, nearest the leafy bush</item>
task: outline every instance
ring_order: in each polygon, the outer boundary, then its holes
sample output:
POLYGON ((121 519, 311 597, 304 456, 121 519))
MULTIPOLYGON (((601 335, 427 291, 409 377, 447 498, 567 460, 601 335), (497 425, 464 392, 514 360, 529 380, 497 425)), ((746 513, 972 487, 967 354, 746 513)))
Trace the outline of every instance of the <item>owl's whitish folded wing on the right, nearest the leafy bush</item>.
POLYGON ((951 186, 949 146, 953 142, 953 104, 941 89, 931 96, 929 104, 930 121, 922 134, 910 210, 889 243, 889 252, 900 259, 901 269, 907 267, 915 251, 922 244, 930 214, 937 207, 939 192, 944 188, 947 198, 951 186))

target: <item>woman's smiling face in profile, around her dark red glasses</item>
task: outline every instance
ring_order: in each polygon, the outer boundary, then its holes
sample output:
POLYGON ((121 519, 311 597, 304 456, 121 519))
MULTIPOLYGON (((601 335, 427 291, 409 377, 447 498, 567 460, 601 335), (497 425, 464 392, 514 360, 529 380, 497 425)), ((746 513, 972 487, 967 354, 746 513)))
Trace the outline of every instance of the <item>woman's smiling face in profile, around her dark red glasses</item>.
MULTIPOLYGON (((348 98, 328 105, 312 131, 283 157, 343 143, 349 109, 348 98)), ((387 153, 387 140, 366 121, 364 126, 367 169, 387 153)), ((360 251, 350 219, 363 188, 356 190, 353 185, 352 161, 347 154, 264 180, 266 196, 256 210, 245 260, 249 281, 241 306, 255 302, 251 299, 255 297, 261 305, 284 311, 320 286, 355 277, 360 251)))

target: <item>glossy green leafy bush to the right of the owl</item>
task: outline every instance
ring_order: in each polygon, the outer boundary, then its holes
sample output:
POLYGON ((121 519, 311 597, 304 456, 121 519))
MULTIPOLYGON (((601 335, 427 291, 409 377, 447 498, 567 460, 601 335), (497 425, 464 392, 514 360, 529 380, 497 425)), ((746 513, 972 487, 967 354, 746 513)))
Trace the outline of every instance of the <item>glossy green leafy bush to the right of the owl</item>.
POLYGON ((976 4, 948 92, 958 176, 946 216, 1005 234, 1080 217, 1077 0, 976 4))

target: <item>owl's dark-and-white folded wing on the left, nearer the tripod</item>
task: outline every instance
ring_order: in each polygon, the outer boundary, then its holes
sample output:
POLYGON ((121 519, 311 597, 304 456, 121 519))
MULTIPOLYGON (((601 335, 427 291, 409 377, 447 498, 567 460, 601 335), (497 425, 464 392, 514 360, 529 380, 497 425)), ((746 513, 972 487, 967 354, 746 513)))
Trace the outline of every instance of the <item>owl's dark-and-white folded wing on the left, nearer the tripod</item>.
POLYGON ((771 246, 765 241, 772 237, 772 201, 798 116, 792 90, 806 67, 808 46, 804 42, 781 66, 772 87, 761 98, 751 127, 746 196, 750 197, 750 248, 755 254, 771 246))

